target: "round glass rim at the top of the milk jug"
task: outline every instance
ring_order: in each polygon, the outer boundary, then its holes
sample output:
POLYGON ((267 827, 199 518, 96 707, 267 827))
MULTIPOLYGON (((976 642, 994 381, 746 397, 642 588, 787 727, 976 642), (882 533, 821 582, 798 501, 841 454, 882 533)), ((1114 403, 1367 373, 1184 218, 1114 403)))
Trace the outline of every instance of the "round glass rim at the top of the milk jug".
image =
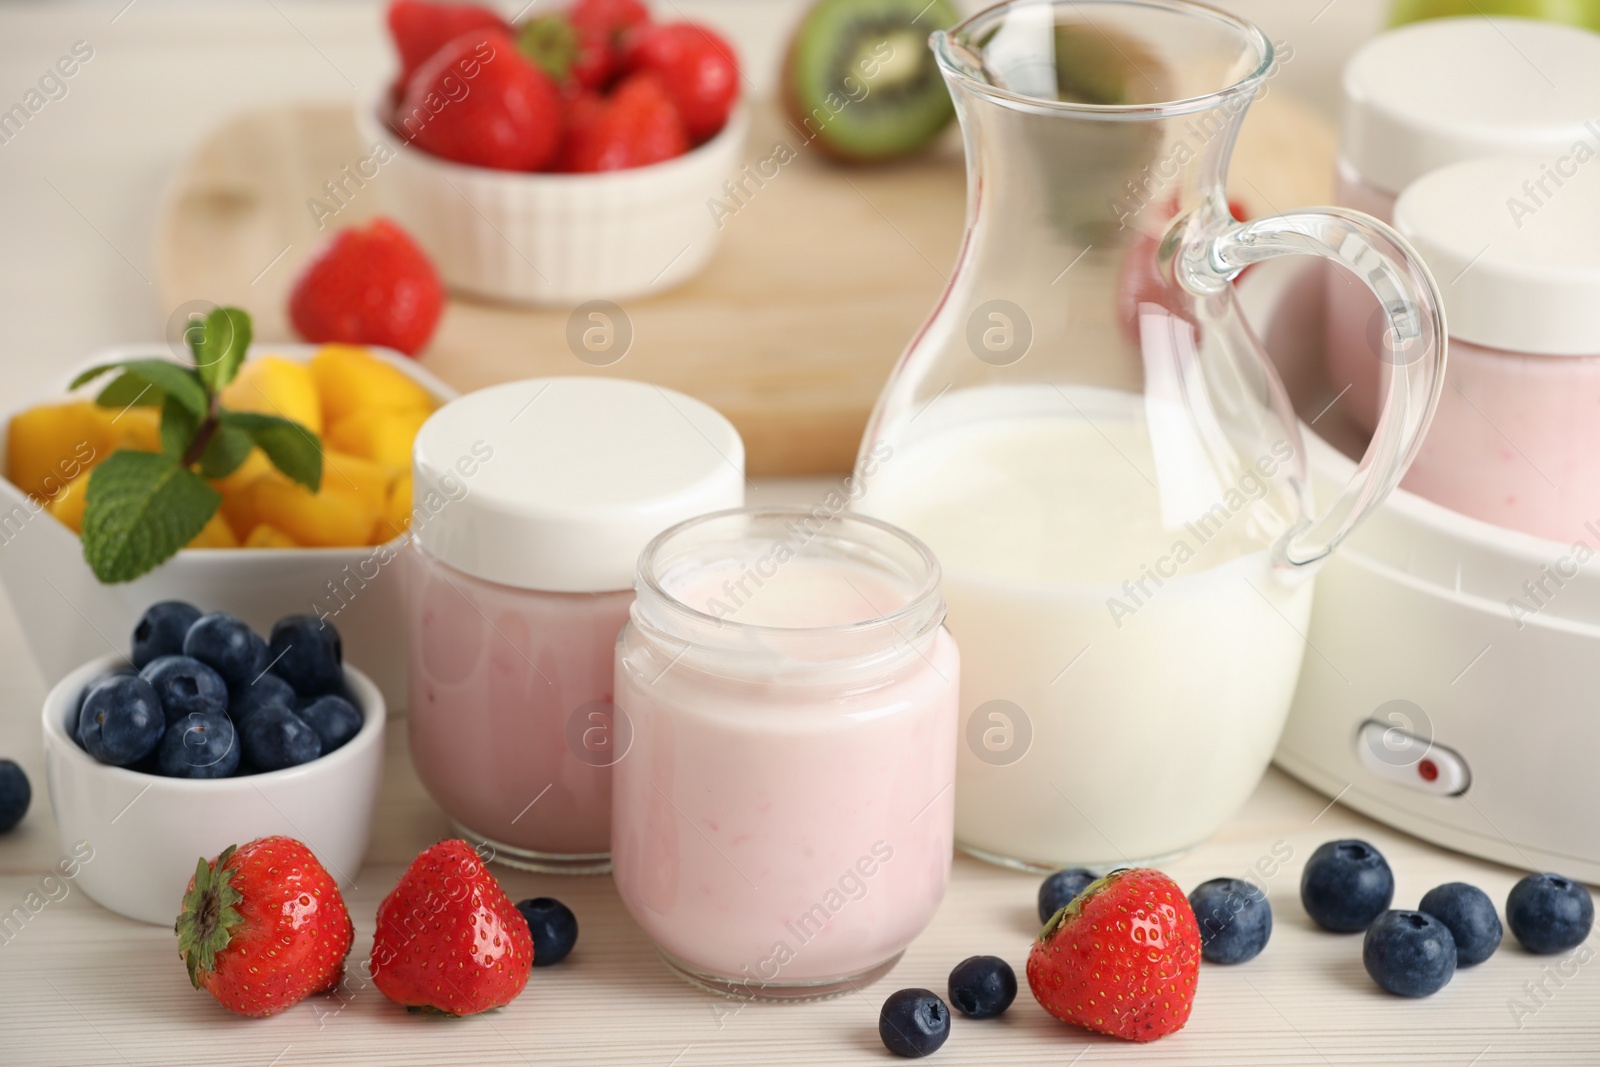
MULTIPOLYGON (((1093 22, 1091 22, 1093 24, 1093 22)), ((1187 115, 1202 110, 1211 110, 1222 102, 1251 94, 1259 88, 1261 82, 1272 70, 1272 64, 1277 61, 1277 50, 1272 46, 1272 40, 1261 32, 1261 27, 1250 19, 1242 19, 1229 11, 1214 8, 1210 3, 1197 3, 1195 0, 1002 0, 1000 3, 990 5, 981 11, 976 11, 949 30, 934 30, 930 37, 930 48, 933 56, 939 64, 939 69, 946 77, 962 82, 966 88, 979 96, 986 96, 995 102, 1014 107, 1037 109, 1043 112, 1062 112, 1075 115, 1101 115, 1106 118, 1163 118, 1168 115, 1187 115), (1238 32, 1243 40, 1248 40, 1256 46, 1261 61, 1256 67, 1238 78, 1232 85, 1226 85, 1211 93, 1202 93, 1198 96, 1184 96, 1174 101, 1158 101, 1154 104, 1080 104, 1075 101, 1048 101, 1038 96, 1027 96, 1024 93, 1013 93, 1011 90, 1000 88, 992 82, 984 82, 968 74, 958 64, 955 54, 952 53, 952 42, 963 40, 978 26, 987 26, 994 22, 997 16, 1005 11, 1018 8, 1070 8, 1080 11, 1086 5, 1094 6, 1118 6, 1118 8, 1152 8, 1157 11, 1170 11, 1174 14, 1182 14, 1194 19, 1205 19, 1208 22, 1219 22, 1222 26, 1232 27, 1238 32)))

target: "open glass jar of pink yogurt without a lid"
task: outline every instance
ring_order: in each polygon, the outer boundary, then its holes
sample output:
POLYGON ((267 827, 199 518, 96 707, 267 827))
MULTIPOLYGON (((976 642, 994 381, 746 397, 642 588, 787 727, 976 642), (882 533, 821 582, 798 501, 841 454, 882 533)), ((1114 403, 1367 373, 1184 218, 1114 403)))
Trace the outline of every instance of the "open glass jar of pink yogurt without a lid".
POLYGON ((818 507, 656 537, 616 649, 618 891, 690 982, 797 1000, 885 974, 950 873, 960 664, 910 534, 818 507))

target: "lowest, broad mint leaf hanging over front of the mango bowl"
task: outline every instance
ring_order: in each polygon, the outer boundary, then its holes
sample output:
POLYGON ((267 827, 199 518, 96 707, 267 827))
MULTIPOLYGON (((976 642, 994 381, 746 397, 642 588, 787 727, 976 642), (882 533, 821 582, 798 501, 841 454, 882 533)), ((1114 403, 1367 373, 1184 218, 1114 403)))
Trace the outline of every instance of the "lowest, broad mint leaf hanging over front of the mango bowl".
POLYGON ((171 456, 115 451, 90 474, 83 558, 102 582, 128 582, 189 544, 222 498, 171 456))

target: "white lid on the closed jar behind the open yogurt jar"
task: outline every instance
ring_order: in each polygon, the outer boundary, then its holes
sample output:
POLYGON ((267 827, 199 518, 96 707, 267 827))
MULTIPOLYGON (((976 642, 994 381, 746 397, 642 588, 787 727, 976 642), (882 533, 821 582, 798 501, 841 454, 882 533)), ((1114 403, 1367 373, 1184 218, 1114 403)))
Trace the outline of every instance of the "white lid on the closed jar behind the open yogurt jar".
POLYGON ((518 589, 630 589, 658 533, 744 504, 733 424, 619 378, 534 378, 451 400, 418 432, 413 466, 421 547, 518 589))

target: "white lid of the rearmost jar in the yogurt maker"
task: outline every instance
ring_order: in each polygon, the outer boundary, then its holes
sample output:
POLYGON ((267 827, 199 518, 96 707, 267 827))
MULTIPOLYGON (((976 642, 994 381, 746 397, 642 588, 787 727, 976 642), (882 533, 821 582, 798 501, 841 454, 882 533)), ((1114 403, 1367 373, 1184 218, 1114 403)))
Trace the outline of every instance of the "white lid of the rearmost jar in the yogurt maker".
POLYGON ((1600 34, 1517 18, 1429 19, 1344 66, 1339 152, 1400 192, 1430 170, 1504 152, 1600 147, 1600 34))

